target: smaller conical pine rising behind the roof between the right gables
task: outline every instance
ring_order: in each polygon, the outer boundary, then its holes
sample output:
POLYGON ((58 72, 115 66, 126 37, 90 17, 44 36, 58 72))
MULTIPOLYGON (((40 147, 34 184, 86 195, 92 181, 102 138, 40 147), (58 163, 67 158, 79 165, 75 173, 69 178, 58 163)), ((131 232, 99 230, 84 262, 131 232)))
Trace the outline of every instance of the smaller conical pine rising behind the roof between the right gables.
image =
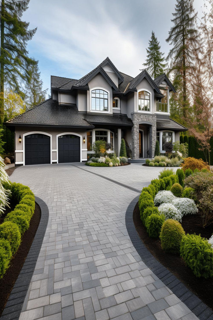
POLYGON ((161 52, 160 49, 161 46, 157 41, 155 33, 152 31, 151 40, 149 40, 149 46, 148 49, 146 49, 147 59, 143 65, 147 67, 147 71, 154 79, 162 75, 166 68, 166 63, 164 63, 164 53, 161 52))

